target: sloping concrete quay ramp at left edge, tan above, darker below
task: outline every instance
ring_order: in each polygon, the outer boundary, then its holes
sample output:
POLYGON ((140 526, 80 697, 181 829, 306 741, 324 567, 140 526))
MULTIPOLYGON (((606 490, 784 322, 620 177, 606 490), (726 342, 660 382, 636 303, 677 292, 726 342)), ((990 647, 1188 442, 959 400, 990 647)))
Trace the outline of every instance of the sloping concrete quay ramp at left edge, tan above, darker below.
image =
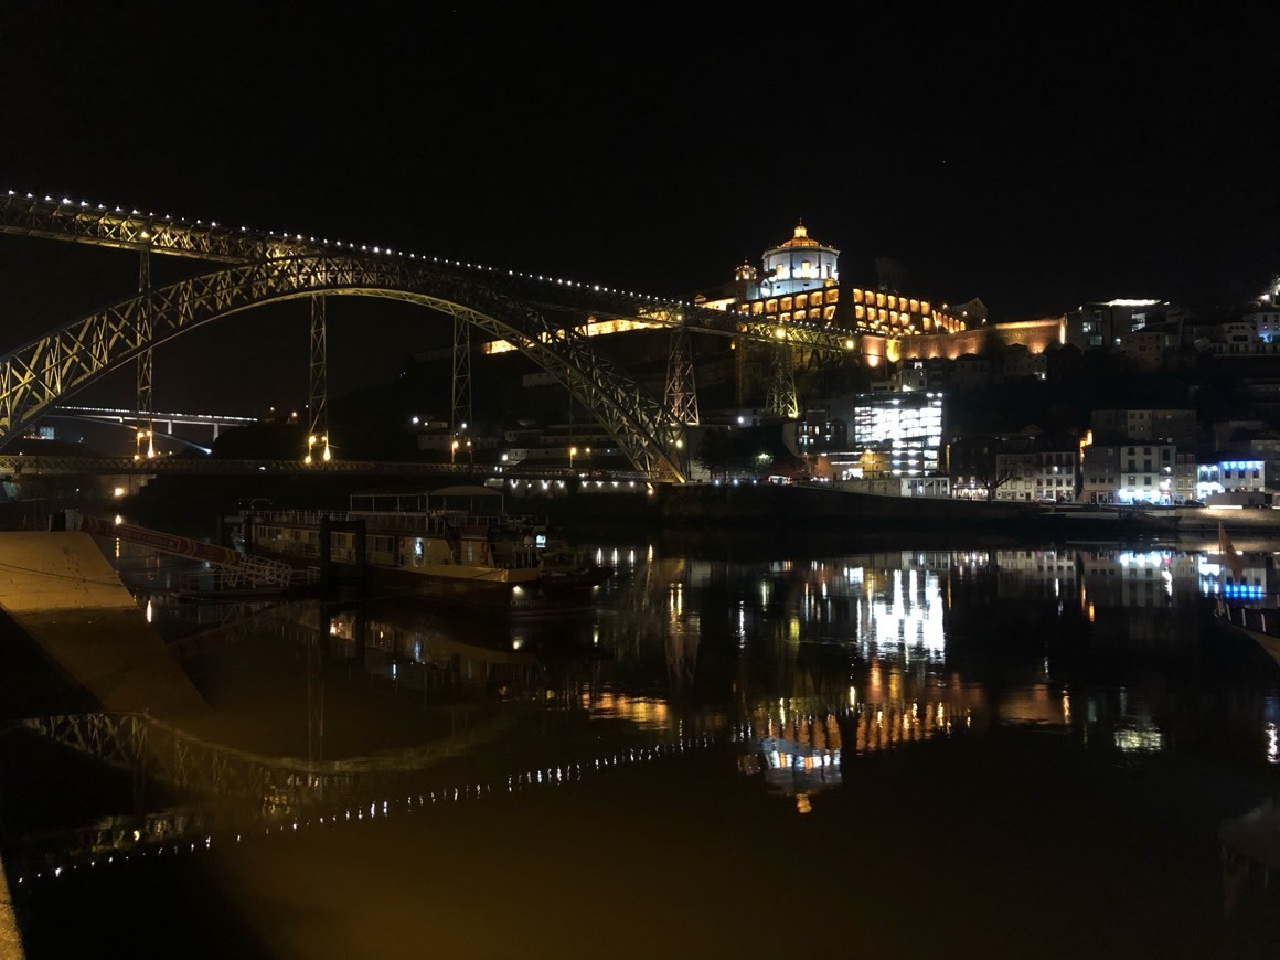
POLYGON ((207 709, 88 534, 0 534, 0 609, 105 710, 207 709))

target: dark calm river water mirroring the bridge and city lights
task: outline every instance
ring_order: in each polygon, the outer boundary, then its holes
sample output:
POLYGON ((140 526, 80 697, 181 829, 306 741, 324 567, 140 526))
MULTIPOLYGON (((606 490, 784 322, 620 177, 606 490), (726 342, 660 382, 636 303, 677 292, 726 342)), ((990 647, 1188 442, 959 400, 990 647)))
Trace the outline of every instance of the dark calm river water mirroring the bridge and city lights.
POLYGON ((1216 558, 692 553, 515 626, 140 594, 215 709, 0 736, 27 955, 1280 956, 1219 840, 1280 666, 1202 616, 1216 558))

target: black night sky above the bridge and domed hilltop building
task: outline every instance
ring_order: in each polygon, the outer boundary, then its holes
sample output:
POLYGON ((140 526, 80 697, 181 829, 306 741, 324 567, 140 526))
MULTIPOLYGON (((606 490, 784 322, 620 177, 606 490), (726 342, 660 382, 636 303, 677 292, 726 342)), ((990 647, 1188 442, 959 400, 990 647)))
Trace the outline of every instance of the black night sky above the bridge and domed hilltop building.
MULTIPOLYGON (((1230 305, 1280 271, 1277 10, 9 0, 0 188, 678 297, 803 219, 997 321, 1230 305)), ((72 319, 33 243, 0 349, 72 319)))

